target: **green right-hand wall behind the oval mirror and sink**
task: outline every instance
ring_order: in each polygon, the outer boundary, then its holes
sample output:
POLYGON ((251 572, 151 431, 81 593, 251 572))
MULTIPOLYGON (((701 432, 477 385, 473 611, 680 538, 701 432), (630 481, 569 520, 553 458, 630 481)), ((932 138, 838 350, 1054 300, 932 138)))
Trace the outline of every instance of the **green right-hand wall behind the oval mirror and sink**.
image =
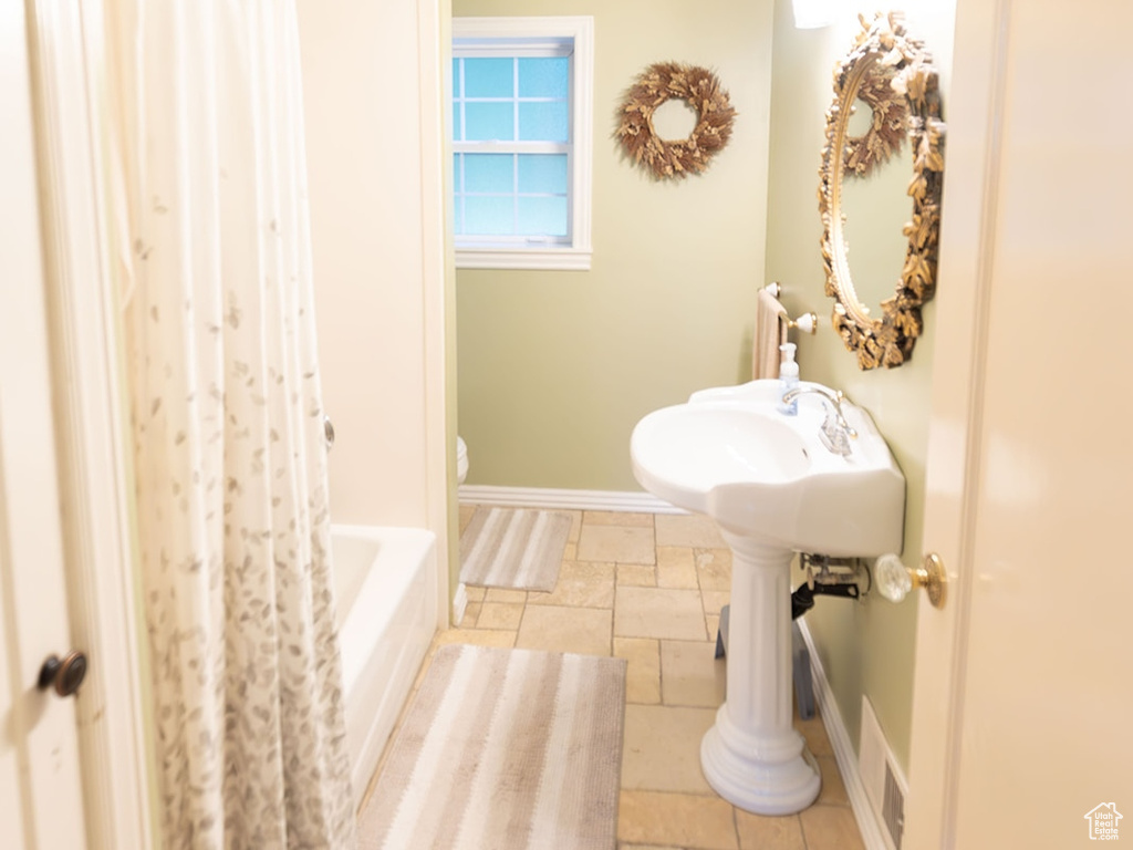
MULTIPOLYGON (((947 0, 906 3, 910 33, 925 41, 940 70, 945 119, 954 10, 955 5, 947 0)), ((844 19, 824 29, 795 29, 791 3, 785 0, 776 3, 767 279, 783 282, 783 300, 792 314, 816 309, 821 317, 818 333, 799 341, 802 377, 842 389, 869 410, 901 465, 908 485, 903 560, 912 566, 919 562, 922 552, 934 306, 930 303, 925 309, 925 334, 910 363, 896 369, 860 372, 853 355, 830 329, 832 301, 823 296, 824 271, 818 249, 821 222, 816 192, 825 114, 833 96, 834 65, 849 51, 859 29, 857 10, 845 12, 844 19)), ((909 201, 900 192, 892 195, 900 219, 902 211, 908 214, 909 201)), ((878 207, 872 212, 868 218, 855 218, 847 227, 851 238, 859 244, 855 253, 854 243, 850 243, 854 271, 859 270, 854 261, 866 253, 862 241, 891 236, 893 210, 878 207)), ((893 286, 898 273, 900 267, 892 270, 893 286)), ((910 595, 896 605, 876 592, 861 603, 819 598, 807 614, 843 722, 855 745, 861 697, 866 695, 903 767, 909 764, 917 606, 922 595, 910 595)))

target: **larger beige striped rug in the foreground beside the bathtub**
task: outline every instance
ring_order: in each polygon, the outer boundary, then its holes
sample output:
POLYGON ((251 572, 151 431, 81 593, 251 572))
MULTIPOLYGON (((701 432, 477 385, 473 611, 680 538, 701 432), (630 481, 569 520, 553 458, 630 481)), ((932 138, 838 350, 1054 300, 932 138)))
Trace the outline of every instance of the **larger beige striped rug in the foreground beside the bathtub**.
POLYGON ((437 649, 360 850, 614 850, 625 661, 437 649))

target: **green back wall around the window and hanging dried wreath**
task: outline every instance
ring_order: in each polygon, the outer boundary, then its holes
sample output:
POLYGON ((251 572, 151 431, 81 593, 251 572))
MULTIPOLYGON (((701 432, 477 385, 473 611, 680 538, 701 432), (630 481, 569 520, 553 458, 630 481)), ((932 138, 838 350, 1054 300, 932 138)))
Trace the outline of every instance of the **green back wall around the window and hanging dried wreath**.
MULTIPOLYGON (((469 484, 640 490, 645 414, 750 377, 764 282, 773 0, 453 0, 453 16, 595 18, 588 272, 457 272, 458 430, 469 484), (657 182, 613 131, 646 66, 717 73, 739 116, 701 176, 657 182)), ((813 194, 810 190, 809 194, 813 194)))

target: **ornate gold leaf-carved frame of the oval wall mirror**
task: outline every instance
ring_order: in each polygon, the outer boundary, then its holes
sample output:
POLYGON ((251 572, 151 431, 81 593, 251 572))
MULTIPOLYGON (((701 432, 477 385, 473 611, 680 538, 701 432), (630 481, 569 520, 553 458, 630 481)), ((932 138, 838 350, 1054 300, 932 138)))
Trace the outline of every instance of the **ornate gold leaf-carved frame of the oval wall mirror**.
POLYGON ((944 180, 944 122, 931 58, 919 40, 905 33, 898 12, 879 14, 872 23, 859 16, 862 32, 834 69, 834 101, 826 113, 818 209, 823 218, 823 263, 826 295, 835 298, 833 324, 862 369, 900 366, 912 356, 921 334, 921 305, 936 289, 944 180), (870 129, 850 137, 847 127, 857 100, 874 111, 870 129), (908 135, 913 159, 909 195, 912 221, 904 267, 892 298, 874 318, 861 304, 846 261, 842 180, 867 175, 889 158, 908 135))

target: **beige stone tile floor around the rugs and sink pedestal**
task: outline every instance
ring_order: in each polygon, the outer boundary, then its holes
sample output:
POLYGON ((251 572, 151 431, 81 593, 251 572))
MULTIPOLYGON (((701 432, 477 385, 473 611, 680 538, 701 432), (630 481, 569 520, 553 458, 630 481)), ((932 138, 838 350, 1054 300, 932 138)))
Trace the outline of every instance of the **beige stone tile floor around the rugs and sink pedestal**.
MULTIPOLYGON (((460 528, 475 505, 461 505, 460 528)), ((796 720, 823 771, 816 805, 760 817, 721 799, 700 774, 700 738, 724 698, 714 658, 731 553, 699 517, 570 511, 551 593, 468 588, 459 628, 470 643, 627 658, 619 850, 855 850, 863 848, 826 730, 796 720)))

